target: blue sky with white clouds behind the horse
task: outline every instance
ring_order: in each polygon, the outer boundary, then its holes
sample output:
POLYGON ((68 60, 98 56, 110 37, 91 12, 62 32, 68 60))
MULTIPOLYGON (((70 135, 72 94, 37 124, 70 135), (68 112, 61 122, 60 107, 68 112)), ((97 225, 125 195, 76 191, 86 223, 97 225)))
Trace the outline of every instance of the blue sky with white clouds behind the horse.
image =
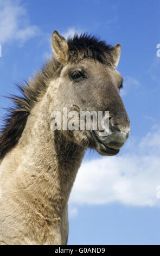
MULTIPOLYGON (((115 157, 86 152, 69 199, 68 244, 160 244, 160 2, 0 0, 0 94, 52 54, 50 36, 89 32, 121 44, 130 138, 115 157)), ((1 97, 1 117, 10 102, 1 97)))

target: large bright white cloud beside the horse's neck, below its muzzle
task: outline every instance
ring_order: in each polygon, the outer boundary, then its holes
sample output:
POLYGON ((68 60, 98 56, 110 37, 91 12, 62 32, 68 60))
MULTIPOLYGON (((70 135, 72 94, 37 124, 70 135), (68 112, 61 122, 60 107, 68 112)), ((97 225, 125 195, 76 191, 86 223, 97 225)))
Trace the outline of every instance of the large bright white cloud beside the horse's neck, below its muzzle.
POLYGON ((83 162, 69 203, 160 206, 160 130, 133 144, 135 149, 129 143, 124 156, 83 162))

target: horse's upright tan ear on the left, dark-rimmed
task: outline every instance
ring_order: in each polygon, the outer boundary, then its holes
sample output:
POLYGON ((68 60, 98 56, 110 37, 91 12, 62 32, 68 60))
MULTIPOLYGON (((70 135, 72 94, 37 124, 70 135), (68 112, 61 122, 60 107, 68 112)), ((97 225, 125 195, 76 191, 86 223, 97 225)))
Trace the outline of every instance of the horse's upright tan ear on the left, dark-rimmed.
POLYGON ((61 36, 57 31, 52 34, 52 50, 55 58, 61 64, 65 65, 68 62, 68 44, 65 38, 61 36))

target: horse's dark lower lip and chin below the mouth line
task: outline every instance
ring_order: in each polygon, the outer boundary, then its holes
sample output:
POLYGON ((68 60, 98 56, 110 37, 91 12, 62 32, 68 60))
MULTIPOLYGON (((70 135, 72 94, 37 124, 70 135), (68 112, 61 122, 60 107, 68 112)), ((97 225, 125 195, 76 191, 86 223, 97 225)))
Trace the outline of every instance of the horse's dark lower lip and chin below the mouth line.
POLYGON ((103 142, 101 142, 97 133, 94 130, 92 131, 92 134, 96 144, 96 150, 100 155, 115 156, 119 153, 119 149, 113 149, 113 148, 107 147, 103 142))

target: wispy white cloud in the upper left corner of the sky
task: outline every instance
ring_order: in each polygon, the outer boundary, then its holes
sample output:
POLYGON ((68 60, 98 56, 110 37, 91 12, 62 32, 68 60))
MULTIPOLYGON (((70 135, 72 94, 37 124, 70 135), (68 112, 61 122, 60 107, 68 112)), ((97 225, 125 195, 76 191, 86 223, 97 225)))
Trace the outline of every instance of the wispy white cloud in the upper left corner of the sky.
POLYGON ((25 41, 39 33, 37 26, 29 24, 27 10, 21 1, 0 0, 0 43, 25 41))

